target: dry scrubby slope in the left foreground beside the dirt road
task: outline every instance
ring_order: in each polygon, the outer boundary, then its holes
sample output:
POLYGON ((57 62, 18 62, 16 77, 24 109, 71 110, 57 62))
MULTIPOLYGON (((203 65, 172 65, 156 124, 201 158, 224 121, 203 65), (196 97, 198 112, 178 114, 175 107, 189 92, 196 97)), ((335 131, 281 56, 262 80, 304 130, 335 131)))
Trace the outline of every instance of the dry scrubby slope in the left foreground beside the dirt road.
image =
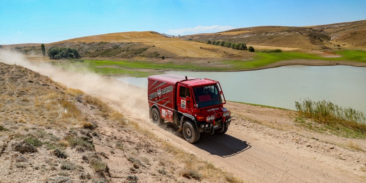
POLYGON ((47 76, 0 63, 0 81, 2 183, 241 182, 47 76))

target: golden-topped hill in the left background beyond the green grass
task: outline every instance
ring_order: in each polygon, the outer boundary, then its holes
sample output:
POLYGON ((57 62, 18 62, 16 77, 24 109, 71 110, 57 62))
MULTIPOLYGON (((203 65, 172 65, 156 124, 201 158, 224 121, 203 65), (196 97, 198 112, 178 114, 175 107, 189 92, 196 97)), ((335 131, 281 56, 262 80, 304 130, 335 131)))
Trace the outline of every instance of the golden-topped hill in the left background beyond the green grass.
MULTIPOLYGON (((7 45, 26 54, 40 55, 39 46, 7 45)), ((201 42, 169 38, 153 31, 125 32, 86 36, 45 44, 51 47, 77 49, 82 57, 139 57, 139 58, 212 58, 237 57, 250 55, 247 51, 238 51, 201 42)))

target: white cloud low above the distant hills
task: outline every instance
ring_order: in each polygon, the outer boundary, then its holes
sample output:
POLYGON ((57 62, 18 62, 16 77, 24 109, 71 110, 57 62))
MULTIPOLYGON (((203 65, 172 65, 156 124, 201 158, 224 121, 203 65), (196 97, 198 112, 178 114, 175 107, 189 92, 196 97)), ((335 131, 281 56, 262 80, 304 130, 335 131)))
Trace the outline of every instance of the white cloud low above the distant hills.
POLYGON ((197 26, 194 28, 183 28, 183 29, 169 29, 167 34, 172 35, 186 35, 186 34, 197 34, 197 33, 216 33, 224 30, 234 29, 232 26, 220 26, 220 25, 213 25, 213 26, 197 26))

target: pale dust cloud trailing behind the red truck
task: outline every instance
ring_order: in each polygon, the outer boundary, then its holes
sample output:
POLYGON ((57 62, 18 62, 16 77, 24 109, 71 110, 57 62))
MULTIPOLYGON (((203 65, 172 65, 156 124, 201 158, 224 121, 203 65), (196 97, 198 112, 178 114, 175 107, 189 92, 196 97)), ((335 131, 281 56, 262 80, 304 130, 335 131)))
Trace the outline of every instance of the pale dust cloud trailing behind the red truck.
POLYGON ((87 71, 83 71, 83 73, 75 72, 80 68, 74 68, 73 71, 66 71, 62 68, 52 66, 49 63, 29 61, 21 53, 5 49, 1 49, 0 51, 0 62, 29 68, 69 88, 80 89, 91 96, 119 104, 121 108, 127 109, 127 115, 131 117, 149 121, 146 89, 127 85, 116 79, 87 71))

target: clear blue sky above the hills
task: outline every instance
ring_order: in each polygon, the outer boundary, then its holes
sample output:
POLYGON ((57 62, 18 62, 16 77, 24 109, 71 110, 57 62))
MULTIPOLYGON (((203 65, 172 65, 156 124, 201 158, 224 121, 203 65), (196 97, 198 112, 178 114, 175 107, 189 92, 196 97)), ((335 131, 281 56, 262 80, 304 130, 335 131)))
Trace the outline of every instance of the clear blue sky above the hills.
POLYGON ((127 31, 170 35, 366 19, 366 0, 0 0, 0 44, 127 31))

